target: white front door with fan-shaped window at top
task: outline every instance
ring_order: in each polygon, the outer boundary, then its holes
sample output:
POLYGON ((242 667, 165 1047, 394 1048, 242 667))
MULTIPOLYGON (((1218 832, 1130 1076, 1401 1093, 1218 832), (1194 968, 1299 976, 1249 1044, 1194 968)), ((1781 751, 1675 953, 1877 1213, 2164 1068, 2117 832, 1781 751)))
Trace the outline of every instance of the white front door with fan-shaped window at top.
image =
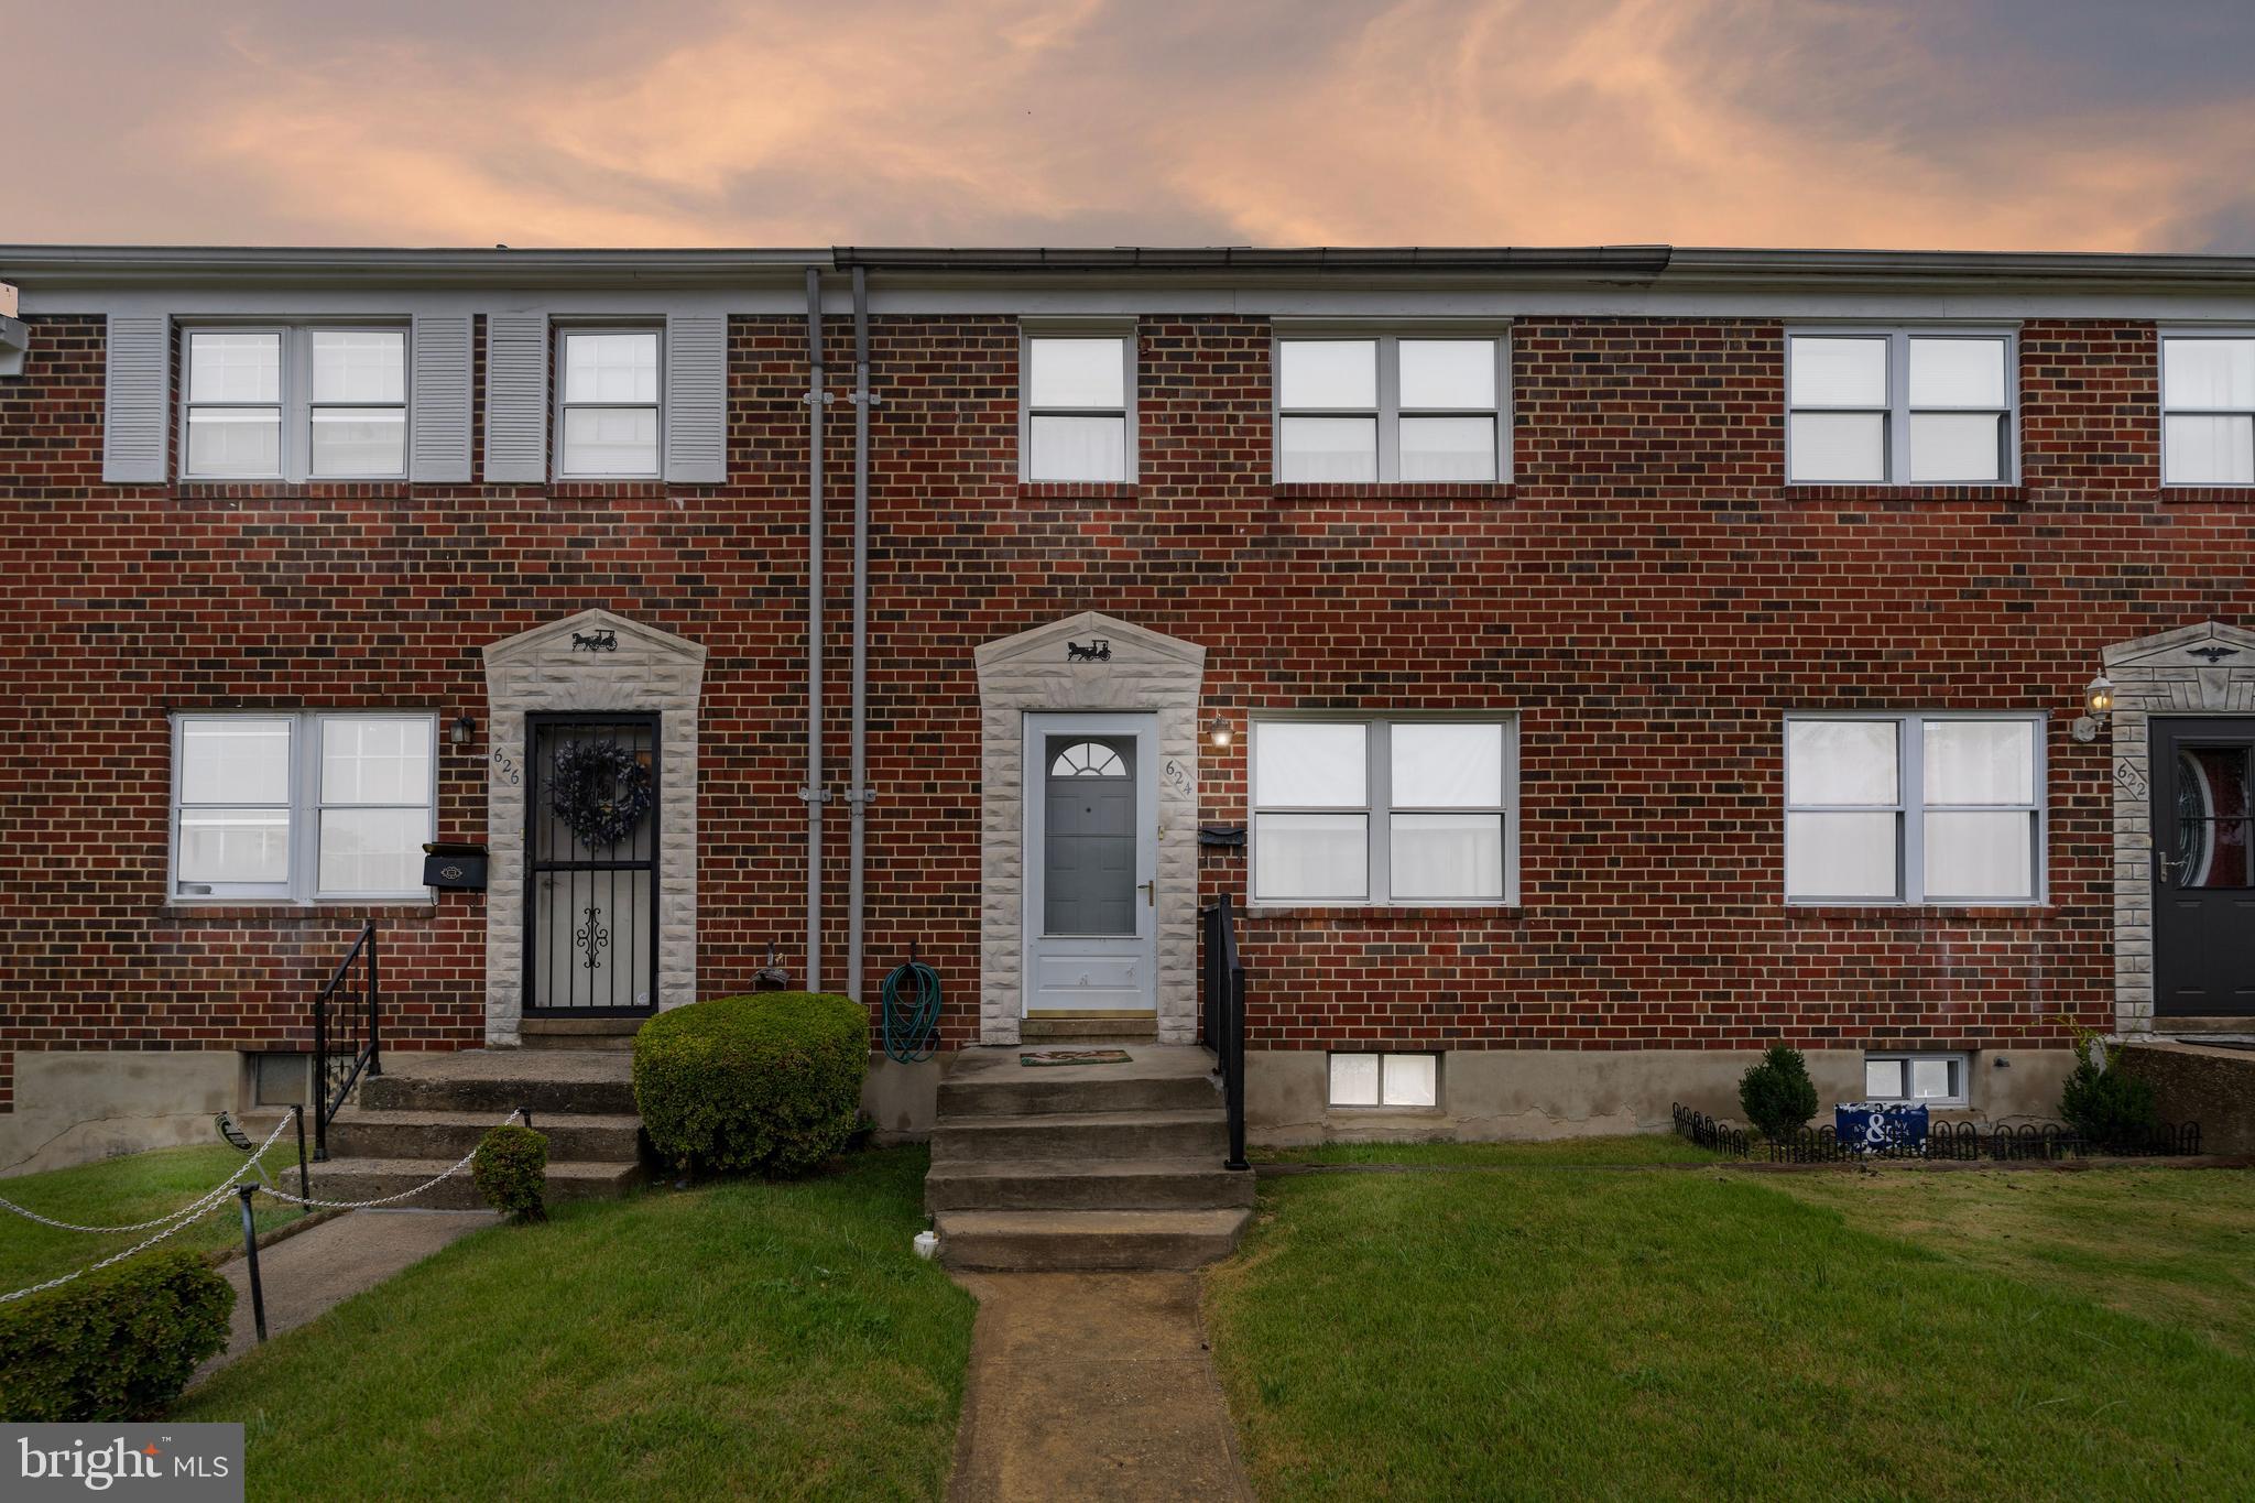
POLYGON ((1026 1016, 1155 1012, 1157 735, 1152 714, 1026 717, 1026 1016))

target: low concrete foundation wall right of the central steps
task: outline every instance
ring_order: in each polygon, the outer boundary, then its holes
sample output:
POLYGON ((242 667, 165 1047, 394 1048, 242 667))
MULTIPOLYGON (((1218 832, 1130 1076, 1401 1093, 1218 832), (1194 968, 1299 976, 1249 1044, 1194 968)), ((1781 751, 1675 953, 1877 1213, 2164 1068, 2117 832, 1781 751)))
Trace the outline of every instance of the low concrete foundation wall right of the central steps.
MULTIPOLYGON (((1671 1127, 1675 1102, 1741 1120, 1739 1077, 1759 1057, 1757 1050, 1457 1050, 1441 1057, 1439 1106, 1371 1109, 1328 1104, 1324 1052, 1261 1050, 1245 1057, 1245 1122, 1254 1142, 1279 1147, 1651 1133, 1671 1127)), ((1804 1050, 1804 1057, 1822 1111, 1863 1095, 1863 1050, 1804 1050)), ((1975 1052, 1971 1106, 1944 1115, 2052 1122, 2072 1066, 2068 1050, 1975 1052)))

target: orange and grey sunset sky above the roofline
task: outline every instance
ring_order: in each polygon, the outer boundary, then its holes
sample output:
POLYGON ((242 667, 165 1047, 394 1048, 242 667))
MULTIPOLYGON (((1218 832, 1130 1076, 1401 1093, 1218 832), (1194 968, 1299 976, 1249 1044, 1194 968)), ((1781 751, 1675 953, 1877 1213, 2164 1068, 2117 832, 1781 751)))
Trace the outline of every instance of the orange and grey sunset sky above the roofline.
POLYGON ((0 0, 0 241, 2255 252, 2246 0, 0 0))

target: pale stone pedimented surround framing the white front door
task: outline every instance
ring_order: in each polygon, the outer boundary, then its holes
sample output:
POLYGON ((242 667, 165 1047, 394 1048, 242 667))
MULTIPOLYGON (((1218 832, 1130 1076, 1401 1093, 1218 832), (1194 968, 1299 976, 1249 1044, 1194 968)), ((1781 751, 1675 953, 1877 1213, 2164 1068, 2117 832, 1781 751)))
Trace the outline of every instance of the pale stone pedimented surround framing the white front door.
POLYGON ((1197 1041, 1197 696, 1206 649, 1082 611, 985 642, 979 665, 979 1041, 1017 1043, 1024 1014, 1026 714, 1159 717, 1159 1043, 1197 1041))

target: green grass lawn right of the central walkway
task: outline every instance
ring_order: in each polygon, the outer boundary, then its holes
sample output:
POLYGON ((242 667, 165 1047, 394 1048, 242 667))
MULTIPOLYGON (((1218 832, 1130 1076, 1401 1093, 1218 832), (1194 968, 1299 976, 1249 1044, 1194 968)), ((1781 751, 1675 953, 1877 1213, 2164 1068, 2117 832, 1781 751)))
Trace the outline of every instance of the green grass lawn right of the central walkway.
POLYGON ((1292 1176, 1206 1318, 1270 1498, 2239 1498, 2255 1474, 2244 1172, 1292 1176))

